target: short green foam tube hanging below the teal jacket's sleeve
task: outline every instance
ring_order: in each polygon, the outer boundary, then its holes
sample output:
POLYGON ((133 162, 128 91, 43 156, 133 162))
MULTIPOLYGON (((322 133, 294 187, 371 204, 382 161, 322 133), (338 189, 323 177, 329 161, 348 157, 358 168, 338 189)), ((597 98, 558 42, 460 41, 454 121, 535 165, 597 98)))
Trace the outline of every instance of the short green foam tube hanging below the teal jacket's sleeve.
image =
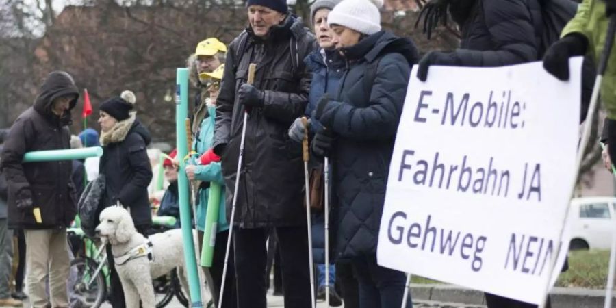
POLYGON ((201 266, 211 268, 214 259, 214 244, 216 244, 216 230, 218 229, 218 207, 222 187, 218 183, 209 183, 209 197, 207 198, 207 213, 205 214, 205 227, 203 228, 203 248, 201 249, 201 266))

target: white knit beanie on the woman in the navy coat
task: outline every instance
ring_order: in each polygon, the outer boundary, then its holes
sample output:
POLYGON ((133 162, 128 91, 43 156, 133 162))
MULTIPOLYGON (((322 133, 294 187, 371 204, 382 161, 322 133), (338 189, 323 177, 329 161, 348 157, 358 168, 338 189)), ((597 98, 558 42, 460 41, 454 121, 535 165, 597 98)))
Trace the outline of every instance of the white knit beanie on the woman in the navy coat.
POLYGON ((327 23, 372 35, 381 31, 381 7, 383 0, 343 0, 329 12, 327 23))

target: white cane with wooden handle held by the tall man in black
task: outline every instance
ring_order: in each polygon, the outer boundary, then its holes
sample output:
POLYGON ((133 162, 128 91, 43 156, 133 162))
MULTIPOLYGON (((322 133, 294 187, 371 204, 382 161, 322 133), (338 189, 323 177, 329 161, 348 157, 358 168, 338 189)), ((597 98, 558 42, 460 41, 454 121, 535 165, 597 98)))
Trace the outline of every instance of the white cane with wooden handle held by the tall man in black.
MULTIPOLYGON (((251 63, 248 66, 248 84, 255 81, 255 70, 257 64, 251 63)), ((229 267, 229 249, 231 248, 231 235, 233 235, 233 220, 235 220, 235 205, 238 204, 238 187, 240 186, 240 171, 242 170, 242 159, 244 158, 244 140, 246 140, 246 122, 248 122, 248 112, 244 109, 244 123, 242 123, 242 139, 240 139, 240 155, 238 157, 238 172, 235 173, 235 188, 233 188, 233 205, 231 206, 231 219, 229 220, 229 236, 227 237, 227 251, 224 253, 224 267, 222 268, 222 280, 220 282, 220 298, 218 308, 222 308, 222 294, 224 294, 224 282, 227 281, 227 268, 229 267)))

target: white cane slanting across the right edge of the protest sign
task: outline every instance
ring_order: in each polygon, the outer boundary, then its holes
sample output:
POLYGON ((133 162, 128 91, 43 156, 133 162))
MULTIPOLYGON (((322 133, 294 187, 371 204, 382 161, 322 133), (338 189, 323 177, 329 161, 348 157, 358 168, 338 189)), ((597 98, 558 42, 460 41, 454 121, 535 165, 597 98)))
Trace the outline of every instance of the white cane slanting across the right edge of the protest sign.
MULTIPOLYGON (((605 45, 604 45, 604 49, 603 49, 603 54, 601 55, 601 58, 599 60, 599 66, 597 68, 597 77, 595 78, 595 86, 593 87, 593 94, 591 96, 591 102, 590 105, 588 107, 588 116, 585 120, 585 125, 584 125, 584 130, 582 131, 582 138, 580 140, 580 145, 578 146, 578 156, 576 157, 576 166, 575 166, 575 170, 576 170, 576 176, 573 178, 573 185, 572 190, 575 190, 576 187, 576 182, 577 182, 577 178, 578 178, 578 173, 580 172, 580 165, 582 164, 582 157, 584 156, 584 150, 586 149, 586 145, 588 144, 588 140, 589 140, 589 136, 590 136, 590 131, 591 131, 591 126, 593 123, 593 117, 595 114, 595 110, 597 110, 597 107, 599 105, 598 101, 599 101, 599 92, 601 90, 601 84, 603 81, 603 74, 605 73, 605 70, 607 68, 608 65, 608 59, 610 57, 610 53, 611 53, 611 49, 612 49, 612 45, 614 43, 614 34, 616 31, 616 14, 613 14, 610 18, 609 24, 608 24, 608 30, 607 30, 607 34, 606 34, 606 39, 605 39, 605 45)), ((572 196, 573 196, 573 192, 572 192, 572 196)), ((570 204, 567 204, 567 211, 565 212, 565 222, 567 221, 567 218, 569 218, 569 207, 571 207, 570 204)), ((563 226, 563 229, 561 229, 561 235, 559 238, 563 238, 563 233, 565 232, 565 228, 563 226)), ((562 243, 561 243, 562 245, 562 243)), ((558 254, 556 254, 555 256, 556 258, 558 257, 558 254)), ((550 277, 554 276, 554 267, 552 267, 552 269, 550 270, 550 277)), ((549 288, 550 288, 550 283, 548 282, 548 285, 546 286, 546 294, 549 293, 549 288)), ((607 298, 606 298, 606 303, 607 303, 607 298)), ((610 298, 611 300, 611 298, 610 298)), ((541 305, 539 305, 539 308, 544 308, 546 307, 546 303, 542 303, 541 305)), ((609 307, 609 306, 606 306, 609 307)))

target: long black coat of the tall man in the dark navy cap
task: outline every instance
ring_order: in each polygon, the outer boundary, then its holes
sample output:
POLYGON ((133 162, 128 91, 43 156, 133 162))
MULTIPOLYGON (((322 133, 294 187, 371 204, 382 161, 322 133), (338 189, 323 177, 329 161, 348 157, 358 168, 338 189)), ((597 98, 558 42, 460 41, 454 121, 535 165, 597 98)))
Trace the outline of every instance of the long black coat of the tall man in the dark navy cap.
POLYGON ((259 38, 248 28, 229 44, 213 142, 215 151, 222 154, 227 217, 231 217, 244 116, 235 94, 246 82, 251 62, 257 64, 255 87, 265 90, 264 106, 249 112, 246 125, 236 226, 306 224, 301 149, 290 140, 287 130, 306 109, 311 73, 303 59, 314 50, 314 42, 303 23, 288 16, 270 29, 268 38, 259 38))

